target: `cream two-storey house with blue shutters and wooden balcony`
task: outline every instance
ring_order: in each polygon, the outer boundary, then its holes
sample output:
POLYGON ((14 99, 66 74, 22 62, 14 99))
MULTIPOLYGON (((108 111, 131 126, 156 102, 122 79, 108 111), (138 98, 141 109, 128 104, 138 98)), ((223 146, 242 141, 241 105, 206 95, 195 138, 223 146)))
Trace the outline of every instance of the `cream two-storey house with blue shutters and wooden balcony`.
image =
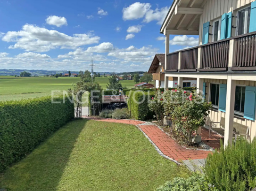
MULTIPOLYGON (((197 81, 197 91, 211 101, 206 125, 225 118, 224 144, 233 124, 256 137, 256 1, 173 0, 160 32, 165 35, 165 88, 169 77, 183 85, 197 81), (196 47, 169 53, 170 35, 199 35, 196 47)), ((200 130, 198 130, 198 133, 200 130)))

